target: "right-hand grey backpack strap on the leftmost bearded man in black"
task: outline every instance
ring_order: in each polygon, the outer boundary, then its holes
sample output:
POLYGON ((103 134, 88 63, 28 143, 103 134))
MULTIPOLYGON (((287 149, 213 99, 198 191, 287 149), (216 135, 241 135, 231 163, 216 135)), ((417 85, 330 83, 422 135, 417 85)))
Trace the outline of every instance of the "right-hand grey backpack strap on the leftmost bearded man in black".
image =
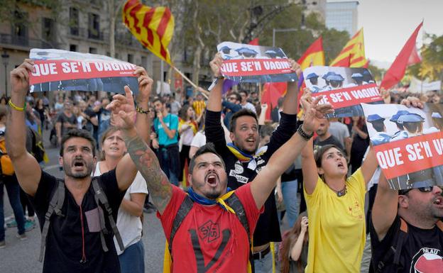
POLYGON ((102 240, 103 250, 104 252, 108 251, 108 247, 106 247, 106 243, 104 240, 104 234, 107 233, 108 230, 106 230, 106 225, 104 222, 104 213, 99 208, 99 203, 101 203, 102 206, 104 206, 106 212, 108 213, 109 224, 111 225, 112 231, 115 235, 117 243, 119 244, 120 250, 123 251, 124 250, 123 240, 121 240, 119 229, 117 228, 116 222, 114 221, 114 217, 112 216, 112 208, 109 206, 106 194, 104 194, 104 191, 99 184, 99 177, 92 177, 92 187, 94 188, 94 199, 97 202, 97 206, 99 209, 100 225, 102 227, 102 232, 100 232, 100 239, 102 240))

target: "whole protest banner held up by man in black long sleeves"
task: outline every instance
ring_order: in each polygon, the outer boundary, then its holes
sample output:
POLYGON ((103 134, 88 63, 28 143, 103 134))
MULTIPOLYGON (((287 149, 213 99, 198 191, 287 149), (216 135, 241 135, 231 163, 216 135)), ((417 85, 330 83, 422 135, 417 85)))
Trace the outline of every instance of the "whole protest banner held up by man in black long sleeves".
POLYGON ((297 74, 281 48, 223 42, 222 74, 235 82, 295 82, 297 74))

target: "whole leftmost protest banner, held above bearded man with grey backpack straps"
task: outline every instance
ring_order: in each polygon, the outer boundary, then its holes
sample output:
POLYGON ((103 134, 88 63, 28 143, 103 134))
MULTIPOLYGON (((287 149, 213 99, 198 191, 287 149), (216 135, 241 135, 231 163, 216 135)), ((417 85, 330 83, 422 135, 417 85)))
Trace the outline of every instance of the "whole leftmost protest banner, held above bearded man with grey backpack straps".
POLYGON ((55 49, 31 49, 34 62, 31 92, 106 91, 124 93, 128 85, 138 93, 136 65, 111 57, 55 49))

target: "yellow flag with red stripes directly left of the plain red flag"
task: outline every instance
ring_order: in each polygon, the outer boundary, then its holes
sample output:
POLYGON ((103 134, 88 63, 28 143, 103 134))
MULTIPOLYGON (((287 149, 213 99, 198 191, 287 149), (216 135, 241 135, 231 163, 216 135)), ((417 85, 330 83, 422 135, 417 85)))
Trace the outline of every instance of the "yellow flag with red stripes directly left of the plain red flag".
POLYGON ((365 57, 363 28, 349 40, 339 55, 329 65, 331 67, 367 67, 365 57))

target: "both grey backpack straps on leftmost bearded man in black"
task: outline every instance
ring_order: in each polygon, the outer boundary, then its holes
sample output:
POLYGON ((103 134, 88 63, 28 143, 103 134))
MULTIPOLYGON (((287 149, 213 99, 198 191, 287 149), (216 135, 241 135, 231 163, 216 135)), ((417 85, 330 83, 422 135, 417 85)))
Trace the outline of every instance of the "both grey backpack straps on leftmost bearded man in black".
MULTIPOLYGON (((65 201, 65 182, 62 179, 57 179, 58 186, 53 191, 53 195, 50 199, 48 211, 45 214, 45 223, 43 224, 43 229, 41 233, 41 243, 40 243, 40 256, 38 258, 39 262, 43 261, 43 255, 45 253, 46 246, 46 238, 48 236, 48 230, 50 225, 50 218, 55 213, 57 216, 65 217, 62 214, 62 206, 65 201)), ((117 243, 119 244, 120 250, 124 251, 123 241, 121 240, 121 235, 119 230, 117 229, 116 222, 114 221, 114 217, 112 216, 112 209, 109 206, 108 199, 104 194, 102 186, 99 184, 99 177, 92 177, 92 188, 94 189, 94 199, 99 208, 99 220, 100 220, 100 240, 102 241, 102 248, 104 252, 108 252, 108 247, 106 246, 106 242, 104 240, 104 234, 108 234, 109 230, 106 229, 105 221, 104 221, 104 211, 108 216, 109 224, 111 225, 112 232, 115 235, 117 243), (102 206, 100 206, 102 204, 102 206)))

